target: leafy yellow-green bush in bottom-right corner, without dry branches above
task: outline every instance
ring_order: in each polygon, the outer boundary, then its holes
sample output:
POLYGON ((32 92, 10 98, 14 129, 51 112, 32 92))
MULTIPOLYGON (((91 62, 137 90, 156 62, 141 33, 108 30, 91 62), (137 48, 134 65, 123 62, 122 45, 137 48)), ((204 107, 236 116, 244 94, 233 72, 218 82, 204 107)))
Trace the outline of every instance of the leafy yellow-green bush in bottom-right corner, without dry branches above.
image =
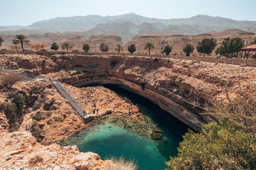
POLYGON ((170 169, 254 169, 256 138, 242 127, 221 120, 204 125, 200 134, 183 136, 178 156, 170 157, 170 169))

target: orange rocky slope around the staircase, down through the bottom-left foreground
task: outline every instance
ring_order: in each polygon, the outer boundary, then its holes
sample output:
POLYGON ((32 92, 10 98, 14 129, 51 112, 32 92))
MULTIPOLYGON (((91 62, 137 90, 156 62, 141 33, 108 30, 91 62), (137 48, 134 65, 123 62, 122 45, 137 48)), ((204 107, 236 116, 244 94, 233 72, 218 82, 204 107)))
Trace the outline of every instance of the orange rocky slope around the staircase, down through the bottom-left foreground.
MULTIPOLYGON (((88 111, 92 111, 96 103, 99 112, 111 109, 115 116, 125 116, 135 123, 137 115, 140 115, 140 120, 143 118, 135 105, 102 86, 75 88, 65 85, 65 88, 88 111)), ((112 164, 111 160, 100 160, 95 153, 79 153, 76 146, 52 144, 90 126, 90 123, 83 123, 50 82, 22 81, 15 83, 11 89, 0 90, 0 169, 104 169, 112 164), (25 97, 26 113, 10 127, 4 112, 6 103, 12 99, 11 94, 15 93, 25 97)))

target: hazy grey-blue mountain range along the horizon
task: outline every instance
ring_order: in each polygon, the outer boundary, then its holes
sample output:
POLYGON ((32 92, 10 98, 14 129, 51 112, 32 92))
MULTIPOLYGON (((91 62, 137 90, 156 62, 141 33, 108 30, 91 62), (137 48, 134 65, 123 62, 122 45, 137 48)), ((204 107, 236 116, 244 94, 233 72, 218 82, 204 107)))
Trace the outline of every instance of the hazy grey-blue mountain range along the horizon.
POLYGON ((232 20, 223 17, 196 15, 188 19, 154 19, 127 13, 106 16, 87 15, 76 17, 56 17, 34 22, 29 26, 0 26, 0 34, 42 34, 82 32, 92 35, 118 35, 123 42, 135 35, 198 35, 223 29, 241 29, 256 33, 256 21, 232 20))

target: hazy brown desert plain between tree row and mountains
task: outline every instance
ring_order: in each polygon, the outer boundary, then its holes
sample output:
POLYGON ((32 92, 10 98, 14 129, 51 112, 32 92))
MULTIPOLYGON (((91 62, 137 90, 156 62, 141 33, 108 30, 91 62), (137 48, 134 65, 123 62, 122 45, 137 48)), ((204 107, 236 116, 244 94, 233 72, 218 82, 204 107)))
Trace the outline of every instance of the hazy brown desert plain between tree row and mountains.
MULTIPOLYGON (((1 35, 4 39, 2 49, 12 49, 12 39, 15 34, 4 34, 1 35)), ((90 45, 90 52, 100 52, 100 43, 106 43, 109 47, 109 52, 116 52, 116 45, 122 45, 121 52, 129 53, 127 46, 134 43, 136 45, 136 52, 134 54, 148 54, 148 50, 145 49, 145 44, 151 42, 154 44, 154 49, 151 54, 161 54, 165 45, 172 46, 172 52, 170 55, 185 55, 183 52, 183 47, 187 43, 191 43, 194 46, 194 52, 191 56, 199 56, 199 52, 196 51, 196 45, 198 42, 202 41, 204 38, 213 38, 217 41, 217 47, 220 47, 223 40, 227 37, 234 38, 240 37, 244 40, 244 44, 248 42, 249 44, 255 40, 255 33, 247 33, 241 29, 227 29, 223 31, 211 31, 209 33, 201 35, 166 35, 166 34, 145 34, 136 35, 134 38, 125 42, 120 36, 116 35, 97 35, 97 36, 87 36, 84 33, 45 33, 45 34, 28 34, 28 40, 31 41, 31 45, 44 44, 44 49, 51 50, 52 43, 56 42, 59 45, 59 50, 61 49, 61 43, 70 42, 74 44, 72 50, 83 51, 83 43, 88 43, 90 45)), ((31 47, 26 46, 25 49, 32 50, 31 47)), ((65 51, 65 50, 64 50, 65 51)), ((216 56, 215 52, 212 52, 212 56, 216 56)))

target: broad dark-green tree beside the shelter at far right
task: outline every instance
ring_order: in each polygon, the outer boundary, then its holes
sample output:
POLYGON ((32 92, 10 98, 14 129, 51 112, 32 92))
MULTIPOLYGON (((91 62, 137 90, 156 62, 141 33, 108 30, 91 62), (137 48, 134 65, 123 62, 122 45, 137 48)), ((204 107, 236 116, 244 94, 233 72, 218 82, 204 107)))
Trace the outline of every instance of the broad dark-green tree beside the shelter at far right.
POLYGON ((235 37, 230 40, 230 38, 225 38, 222 45, 216 49, 215 53, 220 55, 225 55, 230 57, 232 53, 238 52, 239 49, 244 47, 244 42, 242 38, 235 37))

